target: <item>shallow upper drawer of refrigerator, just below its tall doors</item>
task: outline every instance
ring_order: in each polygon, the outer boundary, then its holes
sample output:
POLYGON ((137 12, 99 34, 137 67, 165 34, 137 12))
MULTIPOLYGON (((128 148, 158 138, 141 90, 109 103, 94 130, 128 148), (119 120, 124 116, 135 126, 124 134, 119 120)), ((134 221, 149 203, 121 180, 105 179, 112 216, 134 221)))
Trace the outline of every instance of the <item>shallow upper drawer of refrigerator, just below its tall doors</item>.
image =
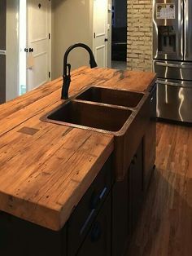
POLYGON ((192 64, 189 62, 154 60, 154 70, 159 78, 192 80, 192 64))

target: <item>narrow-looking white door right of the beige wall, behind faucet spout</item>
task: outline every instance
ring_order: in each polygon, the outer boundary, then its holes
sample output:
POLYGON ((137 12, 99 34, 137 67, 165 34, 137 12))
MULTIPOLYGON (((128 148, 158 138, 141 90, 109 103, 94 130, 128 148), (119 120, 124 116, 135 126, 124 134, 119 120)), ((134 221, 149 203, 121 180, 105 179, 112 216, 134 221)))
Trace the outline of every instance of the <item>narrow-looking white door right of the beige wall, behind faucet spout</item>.
POLYGON ((94 0, 94 57, 100 68, 107 67, 107 0, 94 0))

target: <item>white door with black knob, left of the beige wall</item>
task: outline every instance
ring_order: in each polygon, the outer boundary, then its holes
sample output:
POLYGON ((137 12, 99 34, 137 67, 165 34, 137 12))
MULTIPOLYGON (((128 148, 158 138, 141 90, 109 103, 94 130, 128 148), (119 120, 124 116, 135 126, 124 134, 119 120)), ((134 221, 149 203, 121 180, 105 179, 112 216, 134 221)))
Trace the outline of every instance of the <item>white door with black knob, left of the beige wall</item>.
POLYGON ((50 80, 50 0, 27 0, 27 87, 50 80))

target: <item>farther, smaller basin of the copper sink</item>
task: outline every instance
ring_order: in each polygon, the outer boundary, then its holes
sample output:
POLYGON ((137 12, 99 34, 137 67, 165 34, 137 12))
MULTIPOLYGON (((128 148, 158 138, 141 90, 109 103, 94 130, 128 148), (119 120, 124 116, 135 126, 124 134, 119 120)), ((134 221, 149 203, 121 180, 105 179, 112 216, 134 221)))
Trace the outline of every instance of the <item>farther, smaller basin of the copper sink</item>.
POLYGON ((76 99, 136 108, 143 95, 141 92, 91 86, 82 92, 81 95, 76 96, 76 99))

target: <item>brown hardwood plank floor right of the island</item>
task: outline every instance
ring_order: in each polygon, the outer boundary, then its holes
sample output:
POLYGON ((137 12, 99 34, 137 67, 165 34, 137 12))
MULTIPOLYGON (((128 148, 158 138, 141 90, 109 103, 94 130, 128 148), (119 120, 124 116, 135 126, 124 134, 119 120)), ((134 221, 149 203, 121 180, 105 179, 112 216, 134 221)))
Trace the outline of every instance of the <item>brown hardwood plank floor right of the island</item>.
POLYGON ((157 123, 156 170, 128 256, 192 255, 192 127, 157 123))

